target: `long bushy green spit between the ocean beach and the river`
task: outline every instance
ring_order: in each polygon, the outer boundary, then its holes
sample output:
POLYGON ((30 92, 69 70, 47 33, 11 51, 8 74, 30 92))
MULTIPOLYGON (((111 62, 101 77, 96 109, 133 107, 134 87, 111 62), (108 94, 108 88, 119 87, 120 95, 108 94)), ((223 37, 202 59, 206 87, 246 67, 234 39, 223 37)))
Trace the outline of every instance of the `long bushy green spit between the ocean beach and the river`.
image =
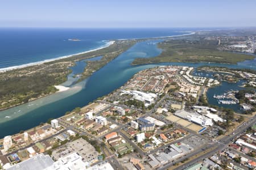
POLYGON ((135 42, 135 40, 115 41, 106 48, 89 53, 0 73, 0 111, 57 92, 55 85, 67 80, 67 75, 71 73, 69 67, 74 66, 76 61, 102 56, 100 60, 87 61, 79 80, 87 78, 129 49, 135 42))

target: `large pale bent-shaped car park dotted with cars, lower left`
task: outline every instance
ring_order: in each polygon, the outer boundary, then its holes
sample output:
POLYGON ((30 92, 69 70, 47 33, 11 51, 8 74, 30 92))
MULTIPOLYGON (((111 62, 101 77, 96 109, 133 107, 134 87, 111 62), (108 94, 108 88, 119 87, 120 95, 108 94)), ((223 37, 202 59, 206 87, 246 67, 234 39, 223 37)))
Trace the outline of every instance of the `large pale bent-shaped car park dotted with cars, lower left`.
POLYGON ((60 146, 52 152, 52 158, 57 160, 74 152, 77 152, 82 156, 82 160, 84 160, 84 162, 94 163, 98 160, 98 152, 92 145, 82 138, 60 146))

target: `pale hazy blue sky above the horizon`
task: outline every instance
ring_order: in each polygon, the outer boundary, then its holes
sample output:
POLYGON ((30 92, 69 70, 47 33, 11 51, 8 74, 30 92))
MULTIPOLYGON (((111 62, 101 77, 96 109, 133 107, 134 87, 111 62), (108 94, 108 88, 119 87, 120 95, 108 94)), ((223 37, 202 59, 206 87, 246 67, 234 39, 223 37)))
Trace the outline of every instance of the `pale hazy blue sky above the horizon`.
POLYGON ((0 27, 247 27, 256 1, 0 0, 0 27))

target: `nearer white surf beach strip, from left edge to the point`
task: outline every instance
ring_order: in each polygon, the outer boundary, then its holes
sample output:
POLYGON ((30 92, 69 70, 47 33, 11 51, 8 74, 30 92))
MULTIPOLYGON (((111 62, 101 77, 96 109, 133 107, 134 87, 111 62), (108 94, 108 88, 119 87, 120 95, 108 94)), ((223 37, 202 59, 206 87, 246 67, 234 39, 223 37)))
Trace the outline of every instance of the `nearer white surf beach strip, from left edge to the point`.
POLYGON ((71 54, 71 55, 68 55, 68 56, 61 56, 61 57, 52 58, 52 59, 45 59, 43 61, 26 63, 26 64, 18 65, 18 66, 10 66, 10 67, 0 68, 0 73, 10 71, 10 70, 23 69, 23 68, 29 67, 29 66, 40 65, 40 64, 46 63, 46 62, 52 62, 52 61, 56 61, 56 60, 63 59, 63 58, 69 58, 69 57, 77 56, 77 55, 80 55, 80 54, 86 54, 86 53, 94 52, 94 51, 97 51, 97 50, 100 50, 100 49, 107 48, 108 46, 114 44, 114 42, 115 41, 109 41, 109 42, 106 43, 106 45, 100 46, 99 48, 92 49, 92 50, 87 50, 87 51, 81 52, 81 53, 71 54))

